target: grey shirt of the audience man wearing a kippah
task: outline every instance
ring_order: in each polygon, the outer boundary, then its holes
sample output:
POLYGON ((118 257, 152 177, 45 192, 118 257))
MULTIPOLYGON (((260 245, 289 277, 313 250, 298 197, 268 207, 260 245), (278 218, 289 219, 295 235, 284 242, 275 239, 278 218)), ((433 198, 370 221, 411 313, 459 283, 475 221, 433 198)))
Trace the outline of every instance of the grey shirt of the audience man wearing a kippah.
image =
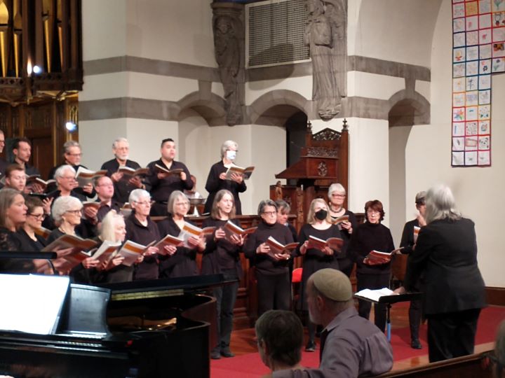
POLYGON ((275 378, 341 378, 378 375, 393 367, 393 349, 384 333, 354 307, 335 316, 318 370, 283 370, 275 378))

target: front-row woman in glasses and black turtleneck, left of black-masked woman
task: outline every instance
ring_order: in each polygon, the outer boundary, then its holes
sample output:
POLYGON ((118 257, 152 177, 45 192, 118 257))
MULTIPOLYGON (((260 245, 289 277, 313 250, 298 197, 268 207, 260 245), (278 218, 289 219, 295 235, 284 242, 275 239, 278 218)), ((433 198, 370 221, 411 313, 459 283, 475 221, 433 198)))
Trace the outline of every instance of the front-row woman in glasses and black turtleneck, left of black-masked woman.
POLYGON ((289 309, 291 286, 289 277, 290 253, 273 253, 265 243, 273 237, 279 243, 292 243, 290 230, 277 223, 277 205, 272 200, 263 200, 258 206, 261 222, 257 230, 245 241, 245 257, 255 267, 258 295, 258 316, 269 309, 289 309))

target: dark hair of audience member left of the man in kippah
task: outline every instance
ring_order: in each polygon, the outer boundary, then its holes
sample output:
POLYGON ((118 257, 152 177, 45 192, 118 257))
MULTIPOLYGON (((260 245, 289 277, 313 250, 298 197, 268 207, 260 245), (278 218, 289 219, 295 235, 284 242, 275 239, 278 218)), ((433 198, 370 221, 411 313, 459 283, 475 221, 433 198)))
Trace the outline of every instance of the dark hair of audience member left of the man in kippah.
POLYGON ((271 360, 295 366, 302 359, 303 325, 292 311, 269 310, 255 325, 258 344, 264 342, 271 360))

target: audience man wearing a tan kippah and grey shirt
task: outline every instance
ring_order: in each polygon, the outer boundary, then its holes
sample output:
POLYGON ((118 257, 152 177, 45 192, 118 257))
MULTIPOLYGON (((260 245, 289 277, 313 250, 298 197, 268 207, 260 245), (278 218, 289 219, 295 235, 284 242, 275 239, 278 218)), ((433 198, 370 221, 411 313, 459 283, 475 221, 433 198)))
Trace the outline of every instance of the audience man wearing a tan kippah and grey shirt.
POLYGON ((311 321, 324 327, 318 370, 283 370, 276 378, 361 377, 391 370, 393 349, 383 332, 358 315, 351 281, 339 270, 321 269, 307 281, 311 321))

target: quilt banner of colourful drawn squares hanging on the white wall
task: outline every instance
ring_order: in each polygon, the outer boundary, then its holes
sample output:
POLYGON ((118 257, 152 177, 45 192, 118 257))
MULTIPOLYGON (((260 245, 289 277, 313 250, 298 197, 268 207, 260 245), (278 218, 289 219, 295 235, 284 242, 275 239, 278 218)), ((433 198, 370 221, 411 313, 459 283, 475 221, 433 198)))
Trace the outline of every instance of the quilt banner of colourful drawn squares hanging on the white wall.
POLYGON ((452 0, 452 166, 491 165, 491 76, 505 72, 505 0, 452 0))

